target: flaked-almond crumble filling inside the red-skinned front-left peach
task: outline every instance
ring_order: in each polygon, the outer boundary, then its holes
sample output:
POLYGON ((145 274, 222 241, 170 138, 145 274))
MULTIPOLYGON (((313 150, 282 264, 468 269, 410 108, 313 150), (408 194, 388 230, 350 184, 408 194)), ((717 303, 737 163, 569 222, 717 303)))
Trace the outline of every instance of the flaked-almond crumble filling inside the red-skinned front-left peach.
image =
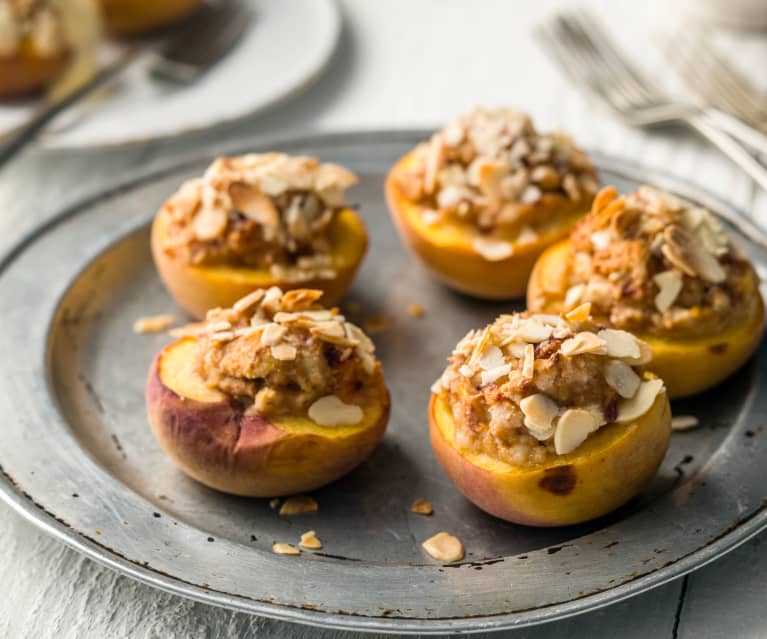
POLYGON ((358 423, 380 364, 361 329, 316 303, 321 295, 272 287, 209 311, 197 337, 199 374, 258 414, 358 423))

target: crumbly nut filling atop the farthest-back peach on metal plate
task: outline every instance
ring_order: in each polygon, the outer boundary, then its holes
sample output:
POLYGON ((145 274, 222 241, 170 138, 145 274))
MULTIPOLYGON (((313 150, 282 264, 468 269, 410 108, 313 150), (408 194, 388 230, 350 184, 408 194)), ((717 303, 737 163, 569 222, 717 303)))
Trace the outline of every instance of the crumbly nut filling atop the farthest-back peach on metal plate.
POLYGON ((534 241, 542 225, 557 221, 541 219, 538 205, 588 202, 597 191, 591 162, 568 136, 539 133, 529 116, 510 108, 476 108, 415 154, 399 186, 423 206, 427 224, 461 220, 534 241))

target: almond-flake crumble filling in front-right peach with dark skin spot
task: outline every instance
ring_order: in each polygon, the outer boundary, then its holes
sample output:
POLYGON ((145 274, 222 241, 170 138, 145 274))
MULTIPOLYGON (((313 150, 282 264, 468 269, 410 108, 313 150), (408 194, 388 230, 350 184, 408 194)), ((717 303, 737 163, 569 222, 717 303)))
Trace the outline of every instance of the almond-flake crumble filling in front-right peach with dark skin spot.
POLYGON ((635 368, 649 346, 594 324, 588 305, 568 316, 501 315, 458 343, 432 388, 446 393, 458 446, 533 466, 650 409, 663 382, 635 368))

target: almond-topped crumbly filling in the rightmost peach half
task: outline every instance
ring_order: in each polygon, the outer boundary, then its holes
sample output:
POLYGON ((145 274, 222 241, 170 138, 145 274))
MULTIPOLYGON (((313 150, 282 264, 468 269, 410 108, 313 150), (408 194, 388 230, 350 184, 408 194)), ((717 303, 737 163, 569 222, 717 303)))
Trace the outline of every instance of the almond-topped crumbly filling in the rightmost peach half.
POLYGON ((576 227, 565 310, 589 301, 594 315, 639 333, 711 334, 757 303, 753 270, 714 215, 649 186, 626 196, 604 189, 576 227))

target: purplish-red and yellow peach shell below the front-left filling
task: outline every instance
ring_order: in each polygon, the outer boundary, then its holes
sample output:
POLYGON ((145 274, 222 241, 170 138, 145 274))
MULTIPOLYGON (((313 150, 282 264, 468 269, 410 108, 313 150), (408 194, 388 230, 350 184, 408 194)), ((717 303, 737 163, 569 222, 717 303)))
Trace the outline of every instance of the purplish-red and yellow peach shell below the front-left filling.
POLYGON ((146 403, 165 452, 210 488, 248 497, 314 490, 351 471, 384 435, 390 402, 383 378, 360 424, 271 420, 208 388, 194 371, 196 348, 193 338, 184 338, 160 352, 149 371, 146 403))

